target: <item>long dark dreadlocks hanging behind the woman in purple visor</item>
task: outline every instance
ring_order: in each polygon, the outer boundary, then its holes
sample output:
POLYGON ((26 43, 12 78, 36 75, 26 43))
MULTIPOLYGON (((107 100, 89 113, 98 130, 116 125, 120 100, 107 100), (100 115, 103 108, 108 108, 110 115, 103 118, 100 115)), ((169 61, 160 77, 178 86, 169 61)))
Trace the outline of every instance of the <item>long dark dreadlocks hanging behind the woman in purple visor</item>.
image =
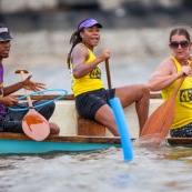
POLYGON ((82 38, 80 37, 80 31, 73 32, 73 34, 71 36, 71 39, 70 39, 70 44, 72 44, 72 47, 71 47, 71 50, 68 53, 68 58, 67 58, 67 63, 68 63, 69 69, 70 69, 70 58, 71 58, 72 50, 80 42, 82 42, 82 38))

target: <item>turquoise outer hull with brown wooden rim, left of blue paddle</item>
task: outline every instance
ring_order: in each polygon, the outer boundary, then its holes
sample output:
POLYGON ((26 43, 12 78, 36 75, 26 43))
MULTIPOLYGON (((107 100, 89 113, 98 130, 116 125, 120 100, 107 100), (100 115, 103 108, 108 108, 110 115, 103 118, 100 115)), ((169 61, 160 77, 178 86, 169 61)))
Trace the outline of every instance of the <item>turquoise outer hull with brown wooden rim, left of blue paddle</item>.
POLYGON ((0 154, 39 154, 48 152, 85 152, 121 148, 120 138, 105 137, 48 137, 33 141, 20 133, 0 133, 0 154))

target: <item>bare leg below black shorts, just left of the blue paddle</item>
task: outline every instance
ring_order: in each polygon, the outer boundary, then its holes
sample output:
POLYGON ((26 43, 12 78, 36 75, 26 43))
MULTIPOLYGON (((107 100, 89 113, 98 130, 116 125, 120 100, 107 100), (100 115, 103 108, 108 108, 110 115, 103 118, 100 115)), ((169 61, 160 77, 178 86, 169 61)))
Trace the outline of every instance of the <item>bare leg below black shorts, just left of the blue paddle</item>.
POLYGON ((94 119, 98 122, 100 122, 101 124, 105 125, 114 137, 120 135, 119 131, 118 131, 118 127, 117 127, 113 111, 108 104, 102 105, 97 111, 94 119))

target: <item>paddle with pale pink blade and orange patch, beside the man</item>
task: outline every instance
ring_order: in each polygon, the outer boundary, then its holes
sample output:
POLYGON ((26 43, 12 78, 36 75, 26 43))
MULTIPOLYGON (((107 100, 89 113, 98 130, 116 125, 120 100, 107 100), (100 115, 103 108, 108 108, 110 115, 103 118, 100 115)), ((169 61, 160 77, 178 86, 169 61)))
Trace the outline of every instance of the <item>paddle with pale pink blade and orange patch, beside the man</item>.
MULTIPOLYGON (((24 80, 24 73, 28 73, 28 71, 17 70, 16 73, 20 73, 22 80, 24 80)), ((26 94, 28 94, 28 90, 24 89, 24 92, 26 94)), ((33 109, 30 97, 28 97, 27 99, 29 111, 22 119, 22 130, 29 138, 36 141, 42 141, 50 133, 49 122, 33 109)))

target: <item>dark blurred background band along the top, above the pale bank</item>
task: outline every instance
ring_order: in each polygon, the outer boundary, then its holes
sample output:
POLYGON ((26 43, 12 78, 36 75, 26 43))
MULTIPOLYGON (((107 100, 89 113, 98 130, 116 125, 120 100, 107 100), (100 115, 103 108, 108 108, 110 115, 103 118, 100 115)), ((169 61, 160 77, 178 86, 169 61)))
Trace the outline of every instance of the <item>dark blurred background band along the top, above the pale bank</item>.
POLYGON ((0 22, 14 31, 68 30, 85 18, 109 29, 192 26, 192 0, 0 0, 0 22))

